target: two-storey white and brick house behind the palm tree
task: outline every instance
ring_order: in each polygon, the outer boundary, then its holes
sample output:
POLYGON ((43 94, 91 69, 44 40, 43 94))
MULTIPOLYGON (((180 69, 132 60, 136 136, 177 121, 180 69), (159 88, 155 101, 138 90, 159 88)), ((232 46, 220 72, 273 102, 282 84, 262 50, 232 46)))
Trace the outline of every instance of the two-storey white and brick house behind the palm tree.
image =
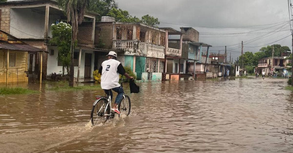
MULTIPOLYGON (((41 48, 49 52, 43 54, 43 78, 50 73, 60 73, 62 66, 57 61, 58 50, 55 46, 49 46, 48 41, 52 38, 50 27, 61 20, 67 20, 63 11, 54 0, 25 0, 0 2, 1 24, 0 29, 11 34, 21 41, 41 48)), ((98 14, 86 13, 84 22, 79 26, 78 47, 74 51, 75 78, 92 78, 94 69, 94 34, 95 19, 98 14), (79 56, 81 54, 81 56, 79 56), (80 69, 80 73, 78 73, 80 69)), ((39 54, 30 54, 29 64, 35 62, 34 71, 40 71, 39 54)))

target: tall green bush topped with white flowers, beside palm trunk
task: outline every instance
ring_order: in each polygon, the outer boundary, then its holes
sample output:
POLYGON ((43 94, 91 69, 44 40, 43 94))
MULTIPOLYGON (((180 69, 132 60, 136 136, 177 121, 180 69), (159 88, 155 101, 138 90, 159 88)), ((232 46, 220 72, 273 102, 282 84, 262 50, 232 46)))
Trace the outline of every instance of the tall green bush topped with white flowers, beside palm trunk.
MULTIPOLYGON (((53 38, 49 41, 50 45, 57 46, 58 57, 57 60, 63 66, 62 74, 64 75, 64 68, 69 74, 70 67, 70 47, 71 47, 71 26, 65 22, 52 24, 51 31, 53 38)), ((76 45, 77 43, 75 43, 76 45)))

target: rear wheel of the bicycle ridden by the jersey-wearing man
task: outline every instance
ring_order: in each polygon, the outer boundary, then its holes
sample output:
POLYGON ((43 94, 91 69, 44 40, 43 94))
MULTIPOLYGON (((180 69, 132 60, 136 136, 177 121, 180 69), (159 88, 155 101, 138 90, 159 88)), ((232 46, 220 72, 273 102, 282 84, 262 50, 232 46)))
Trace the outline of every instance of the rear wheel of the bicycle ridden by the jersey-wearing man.
POLYGON ((105 115, 110 114, 111 109, 110 105, 107 106, 107 103, 107 100, 101 99, 97 102, 96 105, 93 106, 91 111, 91 123, 93 126, 100 123, 105 123, 109 119, 109 115, 105 115))

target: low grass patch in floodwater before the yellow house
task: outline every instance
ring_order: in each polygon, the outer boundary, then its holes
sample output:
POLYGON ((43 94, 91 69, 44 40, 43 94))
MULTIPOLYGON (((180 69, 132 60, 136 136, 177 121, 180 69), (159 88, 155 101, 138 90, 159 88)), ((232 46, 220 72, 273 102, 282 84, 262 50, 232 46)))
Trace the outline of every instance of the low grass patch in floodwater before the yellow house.
POLYGON ((34 94, 34 93, 38 93, 38 91, 21 88, 21 87, 0 87, 0 95, 34 94))

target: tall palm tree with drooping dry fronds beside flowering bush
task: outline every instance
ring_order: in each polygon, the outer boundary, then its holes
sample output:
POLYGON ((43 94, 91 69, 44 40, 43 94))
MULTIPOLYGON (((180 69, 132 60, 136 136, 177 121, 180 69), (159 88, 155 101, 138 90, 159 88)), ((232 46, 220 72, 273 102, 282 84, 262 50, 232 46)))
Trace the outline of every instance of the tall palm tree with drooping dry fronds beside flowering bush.
POLYGON ((62 8, 67 16, 68 22, 71 22, 71 60, 70 60, 70 74, 69 74, 69 87, 73 87, 74 83, 74 42, 78 33, 78 25, 84 20, 84 14, 87 11, 91 0, 58 0, 59 7, 62 8))

